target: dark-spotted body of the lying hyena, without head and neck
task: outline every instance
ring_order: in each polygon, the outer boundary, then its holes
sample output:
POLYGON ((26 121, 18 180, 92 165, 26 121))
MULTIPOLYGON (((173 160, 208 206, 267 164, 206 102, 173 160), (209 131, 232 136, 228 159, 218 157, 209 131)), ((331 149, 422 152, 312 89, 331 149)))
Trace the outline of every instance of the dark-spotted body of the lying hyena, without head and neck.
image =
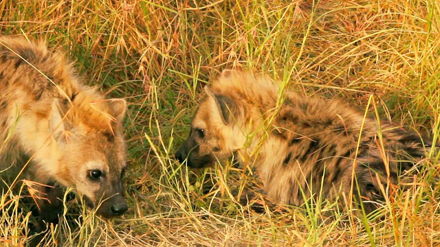
MULTIPOLYGON (((393 123, 364 118, 340 101, 296 93, 287 97, 275 126, 272 134, 285 143, 285 156, 272 168, 261 165, 267 169, 265 187, 270 197, 296 205, 311 193, 324 199, 342 192, 383 200, 380 187, 397 185, 431 145, 393 123)), ((364 206, 366 211, 375 207, 364 206)))

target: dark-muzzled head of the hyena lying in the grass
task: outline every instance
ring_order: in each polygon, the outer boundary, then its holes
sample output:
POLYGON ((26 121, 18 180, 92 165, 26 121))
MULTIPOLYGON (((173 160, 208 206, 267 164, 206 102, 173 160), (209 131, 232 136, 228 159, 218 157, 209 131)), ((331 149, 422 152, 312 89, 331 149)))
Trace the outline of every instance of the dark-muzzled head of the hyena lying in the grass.
POLYGON ((192 119, 190 134, 175 154, 189 167, 207 167, 229 158, 243 146, 237 126, 238 107, 231 97, 205 88, 205 98, 192 119))

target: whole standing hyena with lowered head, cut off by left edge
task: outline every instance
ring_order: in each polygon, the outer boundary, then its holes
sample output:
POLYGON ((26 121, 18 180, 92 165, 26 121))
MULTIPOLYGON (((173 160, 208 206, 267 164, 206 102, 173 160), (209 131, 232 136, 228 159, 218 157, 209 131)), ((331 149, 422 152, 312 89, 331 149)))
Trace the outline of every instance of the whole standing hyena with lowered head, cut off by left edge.
POLYGON ((41 220, 58 218, 57 186, 74 187, 104 217, 126 212, 124 99, 81 84, 63 54, 43 43, 9 37, 0 37, 0 92, 0 171, 25 167, 28 180, 55 185, 32 188, 46 198, 38 200, 41 220))

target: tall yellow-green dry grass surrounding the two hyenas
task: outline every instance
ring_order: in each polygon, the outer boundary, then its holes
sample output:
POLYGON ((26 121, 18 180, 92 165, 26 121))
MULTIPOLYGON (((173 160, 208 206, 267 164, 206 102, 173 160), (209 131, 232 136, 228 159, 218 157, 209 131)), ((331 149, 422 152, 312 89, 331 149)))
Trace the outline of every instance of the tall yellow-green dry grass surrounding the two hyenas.
MULTIPOLYGON (((67 246, 439 245, 438 151, 423 163, 428 175, 385 202, 377 220, 340 209, 329 224, 322 217, 332 209, 314 205, 248 211, 230 194, 246 186, 241 169, 188 170, 173 158, 203 86, 232 67, 370 106, 371 115, 438 141, 439 14, 433 0, 1 1, 1 34, 61 47, 85 83, 129 102, 129 213, 104 220, 67 203, 79 220, 54 232, 67 246)), ((25 244, 32 219, 18 198, 0 200, 4 246, 25 244)))

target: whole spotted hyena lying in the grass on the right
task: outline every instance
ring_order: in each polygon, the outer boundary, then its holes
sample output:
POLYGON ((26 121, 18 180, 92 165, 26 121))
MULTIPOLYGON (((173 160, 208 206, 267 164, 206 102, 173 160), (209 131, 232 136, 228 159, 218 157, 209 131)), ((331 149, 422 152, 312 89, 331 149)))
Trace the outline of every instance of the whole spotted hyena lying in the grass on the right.
POLYGON ((224 71, 206 87, 176 158, 205 167, 236 154, 254 163, 274 202, 300 205, 305 197, 346 193, 371 201, 364 203, 371 212, 383 199, 381 187, 397 184, 431 145, 335 100, 289 92, 277 108, 278 87, 263 76, 224 71))

